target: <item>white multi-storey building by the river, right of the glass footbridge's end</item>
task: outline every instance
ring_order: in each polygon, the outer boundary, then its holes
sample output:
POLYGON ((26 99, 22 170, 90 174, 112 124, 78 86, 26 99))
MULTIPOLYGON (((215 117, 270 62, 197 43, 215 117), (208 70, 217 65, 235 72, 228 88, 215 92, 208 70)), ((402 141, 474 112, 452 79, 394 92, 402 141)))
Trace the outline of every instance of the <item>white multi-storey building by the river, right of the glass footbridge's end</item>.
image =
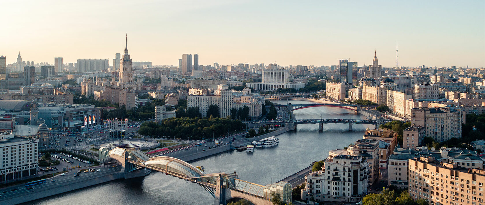
POLYGON ((317 202, 352 202, 362 200, 369 188, 369 163, 365 158, 332 155, 324 160, 322 170, 305 175, 302 200, 317 202))

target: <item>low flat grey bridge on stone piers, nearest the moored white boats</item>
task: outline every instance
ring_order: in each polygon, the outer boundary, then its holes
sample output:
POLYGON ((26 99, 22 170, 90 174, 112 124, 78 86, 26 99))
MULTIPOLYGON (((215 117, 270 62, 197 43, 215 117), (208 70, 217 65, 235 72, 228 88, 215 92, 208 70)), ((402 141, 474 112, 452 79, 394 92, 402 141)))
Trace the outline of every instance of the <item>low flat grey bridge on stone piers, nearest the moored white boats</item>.
POLYGON ((323 130, 323 124, 328 123, 340 123, 348 124, 349 130, 352 130, 352 125, 354 124, 370 124, 379 127, 380 125, 390 122, 390 120, 384 120, 382 118, 377 118, 377 120, 356 120, 356 119, 306 119, 306 120, 268 120, 268 121, 256 121, 253 124, 264 124, 264 125, 284 125, 289 127, 291 130, 296 128, 298 124, 318 124, 318 130, 323 130))

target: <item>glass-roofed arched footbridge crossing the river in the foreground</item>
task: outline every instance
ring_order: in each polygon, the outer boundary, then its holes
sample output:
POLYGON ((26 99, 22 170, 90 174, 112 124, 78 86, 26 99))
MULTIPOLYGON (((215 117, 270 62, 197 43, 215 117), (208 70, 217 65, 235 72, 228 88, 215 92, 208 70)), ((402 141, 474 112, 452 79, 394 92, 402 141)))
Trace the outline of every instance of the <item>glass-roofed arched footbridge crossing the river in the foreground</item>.
POLYGON ((99 158, 104 160, 105 164, 113 161, 121 163, 122 171, 126 175, 140 176, 138 174, 140 172, 146 173, 146 170, 153 170, 198 184, 221 205, 238 199, 246 199, 255 205, 272 205, 270 201, 272 192, 279 193, 281 200, 287 203, 292 200, 292 188, 288 182, 276 182, 263 186, 239 179, 236 172, 204 173, 178 158, 150 157, 140 150, 119 147, 112 150, 101 147, 99 158))

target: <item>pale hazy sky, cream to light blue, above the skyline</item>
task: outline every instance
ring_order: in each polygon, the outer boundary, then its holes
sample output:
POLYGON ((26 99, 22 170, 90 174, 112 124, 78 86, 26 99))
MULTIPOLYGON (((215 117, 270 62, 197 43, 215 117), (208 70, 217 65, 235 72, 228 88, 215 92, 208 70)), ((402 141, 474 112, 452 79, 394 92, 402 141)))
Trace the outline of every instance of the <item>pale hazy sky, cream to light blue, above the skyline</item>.
POLYGON ((7 0, 7 63, 110 59, 334 65, 485 67, 484 0, 7 0))

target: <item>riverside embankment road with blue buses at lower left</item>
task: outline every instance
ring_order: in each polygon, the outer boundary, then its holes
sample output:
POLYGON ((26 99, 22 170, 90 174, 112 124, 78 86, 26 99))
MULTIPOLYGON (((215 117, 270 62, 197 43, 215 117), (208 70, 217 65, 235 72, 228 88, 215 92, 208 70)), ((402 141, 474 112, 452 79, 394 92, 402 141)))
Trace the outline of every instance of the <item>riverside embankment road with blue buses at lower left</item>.
POLYGON ((10 198, 10 197, 19 197, 19 195, 22 195, 22 194, 25 194, 25 193, 28 193, 28 192, 32 192, 32 191, 38 192, 38 191, 42 191, 42 190, 46 190, 46 189, 56 189, 56 188, 60 188, 62 186, 68 185, 68 184, 72 184, 74 182, 90 179, 90 178, 93 178, 93 177, 104 176, 104 175, 108 175, 108 174, 111 174, 111 173, 116 173, 116 172, 119 172, 122 169, 122 167, 121 166, 119 166, 119 167, 97 167, 95 169, 101 169, 101 171, 100 172, 88 172, 88 173, 82 172, 82 173, 80 173, 80 176, 74 176, 75 172, 66 173, 64 176, 59 174, 59 175, 54 176, 53 178, 46 179, 46 182, 44 184, 33 186, 33 189, 27 189, 27 187, 25 187, 25 184, 20 184, 20 185, 16 185, 16 186, 9 186, 7 188, 0 189, 0 192, 8 191, 6 193, 0 193, 0 195, 1 195, 0 201, 4 200, 6 198, 10 198), (52 180, 52 179, 55 179, 56 181, 50 182, 50 180, 52 180), (14 188, 16 188, 17 190, 11 191, 14 188))

